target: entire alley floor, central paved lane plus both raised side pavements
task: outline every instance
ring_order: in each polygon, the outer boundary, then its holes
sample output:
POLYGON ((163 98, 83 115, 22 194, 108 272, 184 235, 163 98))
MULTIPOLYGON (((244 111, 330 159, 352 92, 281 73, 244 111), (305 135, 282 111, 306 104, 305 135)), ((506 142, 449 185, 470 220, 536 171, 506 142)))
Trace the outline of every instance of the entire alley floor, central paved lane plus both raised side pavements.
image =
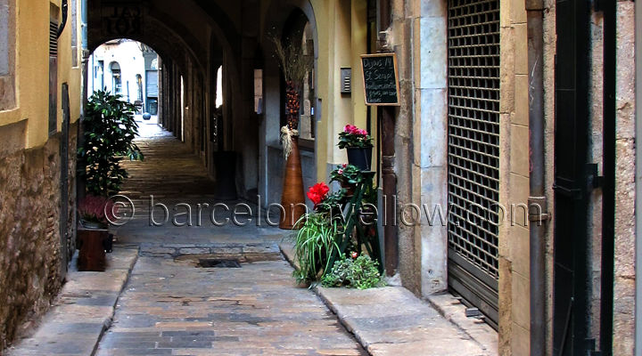
MULTIPOLYGON (((457 319, 457 308, 440 310, 444 318, 401 287, 318 288, 317 295, 294 286, 292 267, 278 247, 287 246, 289 231, 256 220, 245 226, 150 226, 150 195, 172 213, 178 203, 192 206, 194 222, 198 204, 217 201, 200 158, 156 125, 144 124, 141 131, 146 137, 137 143, 145 161, 127 162, 131 176, 122 192, 134 202, 136 214, 113 229, 117 247, 136 246, 140 255, 111 327, 104 331, 136 258, 131 250, 127 258, 116 258, 127 261, 118 272, 70 273, 60 307, 10 355, 496 354, 471 337, 492 339, 488 326, 481 325, 476 334, 463 332, 449 321, 457 319), (240 268, 196 267, 206 259, 235 260, 240 268)), ((247 204, 251 219, 259 213, 251 202, 226 204, 247 204)), ((226 214, 214 215, 220 221, 230 217, 226 214)))

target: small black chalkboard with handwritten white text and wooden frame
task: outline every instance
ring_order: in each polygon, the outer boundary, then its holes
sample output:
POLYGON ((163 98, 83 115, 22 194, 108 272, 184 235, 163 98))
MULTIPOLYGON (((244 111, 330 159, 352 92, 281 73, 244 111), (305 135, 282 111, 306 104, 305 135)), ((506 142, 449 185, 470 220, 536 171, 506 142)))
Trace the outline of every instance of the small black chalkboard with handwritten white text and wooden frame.
POLYGON ((361 55, 366 105, 399 105, 397 55, 377 53, 361 55))

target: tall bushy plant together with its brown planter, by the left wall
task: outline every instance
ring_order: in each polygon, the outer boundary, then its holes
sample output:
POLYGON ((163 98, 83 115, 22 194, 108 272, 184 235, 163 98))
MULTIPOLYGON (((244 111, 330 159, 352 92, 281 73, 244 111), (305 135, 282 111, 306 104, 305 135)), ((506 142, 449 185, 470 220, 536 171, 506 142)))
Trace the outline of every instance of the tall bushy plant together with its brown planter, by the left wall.
POLYGON ((143 159, 134 142, 138 134, 135 110, 136 107, 122 101, 120 95, 106 91, 94 92, 87 102, 84 142, 78 149, 78 174, 85 182, 87 193, 78 204, 82 225, 78 229, 79 271, 104 271, 104 252, 111 250, 107 228, 110 214, 115 214, 108 197, 120 190, 128 176, 120 161, 143 159))

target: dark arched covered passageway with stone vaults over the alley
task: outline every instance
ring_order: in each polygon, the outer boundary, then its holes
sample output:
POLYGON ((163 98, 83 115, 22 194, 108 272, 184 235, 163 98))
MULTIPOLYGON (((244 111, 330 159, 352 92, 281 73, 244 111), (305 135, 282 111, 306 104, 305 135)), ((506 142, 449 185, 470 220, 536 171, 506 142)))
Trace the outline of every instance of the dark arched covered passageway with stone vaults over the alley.
POLYGON ((153 48, 161 57, 159 123, 185 142, 212 179, 233 174, 227 187, 231 185, 240 198, 254 201, 260 196, 262 206, 280 201, 284 169, 279 143, 284 83, 274 61, 272 38, 305 46, 315 67, 302 86, 301 159, 304 184, 317 180, 321 105, 317 23, 309 1, 89 0, 88 4, 90 51, 119 38, 153 48), (222 156, 226 171, 217 173, 222 156), (230 159, 235 169, 230 169, 230 159))

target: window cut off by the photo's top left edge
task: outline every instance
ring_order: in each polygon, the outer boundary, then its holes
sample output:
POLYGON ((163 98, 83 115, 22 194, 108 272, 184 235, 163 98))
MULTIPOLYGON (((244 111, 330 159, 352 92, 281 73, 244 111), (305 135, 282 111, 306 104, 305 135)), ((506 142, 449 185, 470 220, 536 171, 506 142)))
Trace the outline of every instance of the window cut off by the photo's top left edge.
POLYGON ((0 0, 0 110, 15 105, 15 0, 0 0))

